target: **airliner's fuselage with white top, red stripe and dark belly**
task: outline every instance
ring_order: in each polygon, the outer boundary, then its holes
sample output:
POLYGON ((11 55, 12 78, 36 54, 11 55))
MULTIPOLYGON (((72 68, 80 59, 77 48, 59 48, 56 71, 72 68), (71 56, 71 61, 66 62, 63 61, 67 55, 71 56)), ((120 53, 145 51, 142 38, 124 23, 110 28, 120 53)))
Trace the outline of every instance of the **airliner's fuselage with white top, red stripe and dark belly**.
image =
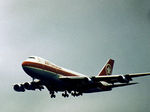
MULTIPOLYGON (((69 77, 87 77, 81 73, 77 73, 62 67, 59 67, 49 61, 39 58, 39 57, 29 57, 22 63, 23 70, 31 76, 33 79, 42 80, 43 83, 47 85, 47 88, 54 88, 57 91, 64 91, 66 89, 72 90, 77 86, 77 90, 85 88, 83 92, 91 93, 91 92, 100 92, 101 88, 95 87, 93 88, 94 84, 91 85, 92 82, 89 82, 90 85, 88 86, 87 83, 82 85, 74 85, 70 86, 70 82, 60 80, 62 76, 69 76, 69 77), (50 87, 50 86, 51 87, 50 87)), ((87 77, 88 79, 88 77, 87 77)))

